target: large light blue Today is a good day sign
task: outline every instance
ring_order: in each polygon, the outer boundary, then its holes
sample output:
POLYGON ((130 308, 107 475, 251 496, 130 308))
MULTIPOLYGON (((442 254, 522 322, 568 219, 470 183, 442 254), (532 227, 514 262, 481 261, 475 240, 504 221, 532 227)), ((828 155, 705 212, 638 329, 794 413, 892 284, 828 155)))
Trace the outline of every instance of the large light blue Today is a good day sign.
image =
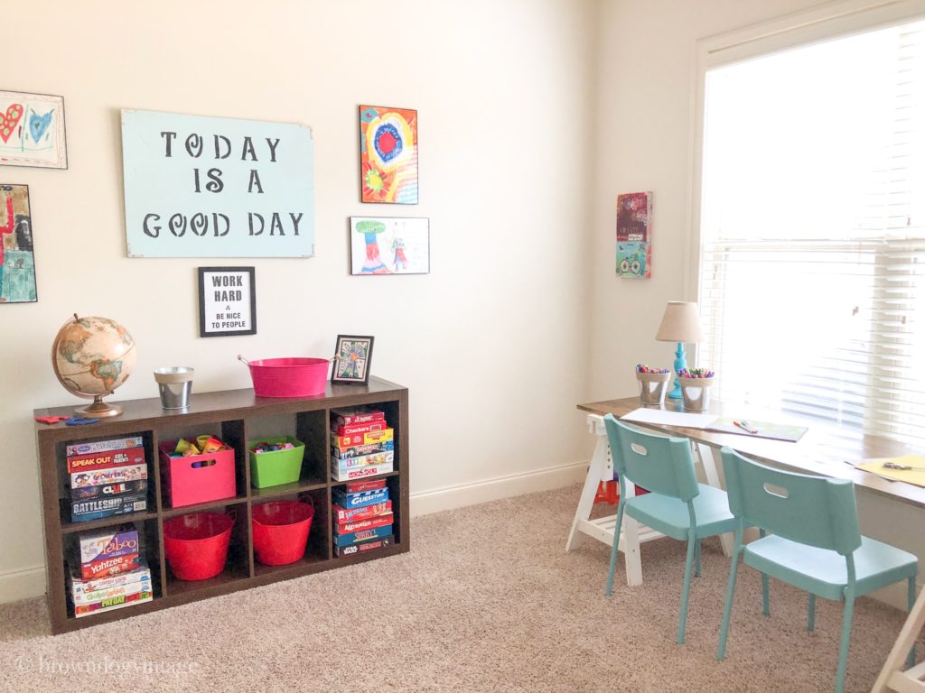
POLYGON ((314 255, 308 126, 122 111, 130 258, 314 255))

